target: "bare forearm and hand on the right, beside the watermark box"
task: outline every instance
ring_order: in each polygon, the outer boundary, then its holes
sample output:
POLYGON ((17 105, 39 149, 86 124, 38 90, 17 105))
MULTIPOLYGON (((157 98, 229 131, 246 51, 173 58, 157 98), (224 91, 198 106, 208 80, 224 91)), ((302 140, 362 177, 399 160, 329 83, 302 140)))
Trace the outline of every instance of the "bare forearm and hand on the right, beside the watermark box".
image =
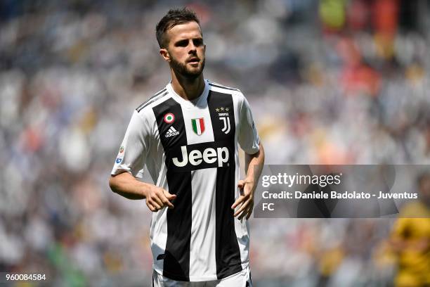
POLYGON ((245 153, 245 171, 247 175, 238 184, 239 189, 243 189, 243 193, 231 206, 231 208, 235 209, 238 205, 242 204, 234 214, 235 217, 239 215, 238 219, 242 219, 245 215, 249 219, 254 209, 254 192, 264 165, 264 148, 261 142, 259 147, 259 151, 253 155, 245 153))

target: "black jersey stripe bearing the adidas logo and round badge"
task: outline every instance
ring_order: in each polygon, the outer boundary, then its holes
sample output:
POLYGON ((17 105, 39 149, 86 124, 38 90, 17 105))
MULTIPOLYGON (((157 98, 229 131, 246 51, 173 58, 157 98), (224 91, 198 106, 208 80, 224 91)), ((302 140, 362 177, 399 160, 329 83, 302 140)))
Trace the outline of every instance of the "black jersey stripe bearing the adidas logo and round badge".
POLYGON ((190 243, 191 243, 191 172, 176 172, 171 168, 171 151, 175 147, 186 146, 185 123, 181 105, 169 98, 152 108, 157 119, 159 140, 166 155, 167 183, 169 193, 176 194, 174 208, 167 210, 167 242, 164 257, 163 275, 176 281, 190 281, 190 243), (174 114, 174 122, 164 122, 164 115, 174 114), (166 137, 170 127, 179 134, 166 137))

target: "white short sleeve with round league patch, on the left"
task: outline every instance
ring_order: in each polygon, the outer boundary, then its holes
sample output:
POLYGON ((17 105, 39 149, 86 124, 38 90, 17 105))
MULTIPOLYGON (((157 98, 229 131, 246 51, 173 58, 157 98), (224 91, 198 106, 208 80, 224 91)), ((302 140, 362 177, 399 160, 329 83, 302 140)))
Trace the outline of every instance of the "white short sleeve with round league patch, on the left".
POLYGON ((150 125, 135 110, 119 147, 112 175, 129 172, 134 177, 143 177, 143 169, 150 148, 150 134, 150 125))

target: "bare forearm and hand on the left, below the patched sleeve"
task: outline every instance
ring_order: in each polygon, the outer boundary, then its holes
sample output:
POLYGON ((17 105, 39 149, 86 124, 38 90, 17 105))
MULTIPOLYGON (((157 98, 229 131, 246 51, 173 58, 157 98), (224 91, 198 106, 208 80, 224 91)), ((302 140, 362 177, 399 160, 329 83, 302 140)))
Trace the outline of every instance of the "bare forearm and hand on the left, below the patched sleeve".
POLYGON ((111 175, 109 186, 113 192, 129 199, 145 199, 146 205, 151 211, 157 211, 164 207, 174 208, 170 200, 174 200, 176 195, 170 194, 161 187, 154 184, 138 181, 129 172, 111 175))

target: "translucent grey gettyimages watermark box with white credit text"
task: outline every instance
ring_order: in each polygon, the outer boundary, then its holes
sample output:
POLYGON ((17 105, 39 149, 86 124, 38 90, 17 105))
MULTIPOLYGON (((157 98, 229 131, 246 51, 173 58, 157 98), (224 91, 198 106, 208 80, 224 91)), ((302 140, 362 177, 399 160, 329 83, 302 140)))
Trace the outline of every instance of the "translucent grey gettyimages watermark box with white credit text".
MULTIPOLYGON (((254 217, 394 217, 426 165, 266 165, 254 217)), ((401 213, 400 213, 401 215, 401 213)), ((419 217, 419 215, 417 215, 419 217)))

